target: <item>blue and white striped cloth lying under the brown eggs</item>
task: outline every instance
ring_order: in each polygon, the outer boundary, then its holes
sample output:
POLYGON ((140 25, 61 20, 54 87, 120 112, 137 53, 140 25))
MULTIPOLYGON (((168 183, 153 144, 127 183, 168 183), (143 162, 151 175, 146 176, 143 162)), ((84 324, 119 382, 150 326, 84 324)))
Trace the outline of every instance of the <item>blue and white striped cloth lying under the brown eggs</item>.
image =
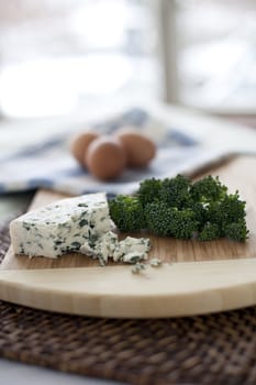
POLYGON ((205 148, 182 128, 164 124, 147 111, 134 108, 119 117, 94 124, 93 130, 114 133, 124 125, 154 138, 158 151, 156 158, 144 169, 125 169, 113 182, 102 183, 81 168, 68 150, 70 132, 53 136, 45 143, 23 148, 0 158, 0 194, 25 191, 35 188, 80 195, 107 191, 109 195, 132 194, 140 182, 148 177, 172 177, 178 173, 191 174, 216 161, 223 154, 218 148, 205 148))

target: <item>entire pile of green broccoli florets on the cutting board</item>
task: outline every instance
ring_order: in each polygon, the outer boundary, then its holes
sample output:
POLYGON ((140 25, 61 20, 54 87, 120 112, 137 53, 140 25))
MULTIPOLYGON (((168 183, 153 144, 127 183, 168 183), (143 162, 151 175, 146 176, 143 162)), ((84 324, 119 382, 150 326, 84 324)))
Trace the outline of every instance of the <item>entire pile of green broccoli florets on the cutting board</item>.
POLYGON ((147 229, 158 237, 211 241, 227 237, 245 241, 245 201, 238 191, 227 194, 219 177, 196 183, 182 175, 145 179, 134 197, 110 201, 110 216, 121 231, 147 229))

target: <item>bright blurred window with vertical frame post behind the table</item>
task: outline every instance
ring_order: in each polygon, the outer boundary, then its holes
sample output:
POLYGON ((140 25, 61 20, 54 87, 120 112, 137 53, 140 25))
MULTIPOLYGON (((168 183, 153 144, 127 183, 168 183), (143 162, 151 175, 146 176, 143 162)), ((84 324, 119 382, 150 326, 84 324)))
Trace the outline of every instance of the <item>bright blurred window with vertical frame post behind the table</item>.
POLYGON ((2 119, 127 100, 254 118, 256 1, 0 0, 2 119))

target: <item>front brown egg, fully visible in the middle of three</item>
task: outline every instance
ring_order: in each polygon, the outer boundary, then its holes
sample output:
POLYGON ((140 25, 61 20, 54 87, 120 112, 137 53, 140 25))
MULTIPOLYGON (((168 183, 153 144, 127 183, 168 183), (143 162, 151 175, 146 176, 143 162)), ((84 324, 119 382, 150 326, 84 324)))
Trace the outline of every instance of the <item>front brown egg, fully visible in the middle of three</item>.
POLYGON ((118 139, 101 136, 88 147, 86 155, 88 169, 101 180, 119 177, 125 166, 125 153, 118 139))

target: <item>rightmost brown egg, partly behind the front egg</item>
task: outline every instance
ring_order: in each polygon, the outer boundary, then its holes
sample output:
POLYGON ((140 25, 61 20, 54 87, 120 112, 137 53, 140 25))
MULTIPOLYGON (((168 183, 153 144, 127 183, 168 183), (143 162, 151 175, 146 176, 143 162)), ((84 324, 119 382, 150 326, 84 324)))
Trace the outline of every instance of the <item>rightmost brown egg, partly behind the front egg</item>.
POLYGON ((145 167, 156 155, 155 143, 133 129, 122 129, 116 133, 125 154, 127 166, 145 167))

